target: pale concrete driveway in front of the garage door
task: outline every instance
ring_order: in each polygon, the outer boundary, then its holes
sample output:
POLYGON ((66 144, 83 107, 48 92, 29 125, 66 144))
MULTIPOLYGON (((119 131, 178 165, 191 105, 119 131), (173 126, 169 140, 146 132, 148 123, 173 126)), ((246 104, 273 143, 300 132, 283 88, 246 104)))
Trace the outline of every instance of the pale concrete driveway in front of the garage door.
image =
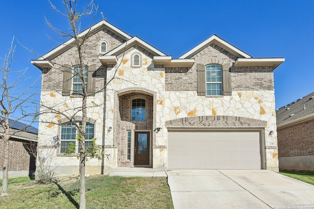
POLYGON ((175 209, 314 209, 314 186, 267 170, 167 170, 175 209))

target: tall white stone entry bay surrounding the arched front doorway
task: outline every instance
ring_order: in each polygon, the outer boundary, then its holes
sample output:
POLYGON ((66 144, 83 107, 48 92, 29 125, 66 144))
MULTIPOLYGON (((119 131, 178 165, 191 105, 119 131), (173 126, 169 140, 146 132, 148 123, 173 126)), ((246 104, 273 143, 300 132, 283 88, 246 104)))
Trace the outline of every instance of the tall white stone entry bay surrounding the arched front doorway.
MULTIPOLYGON (((107 101, 106 101, 106 126, 112 126, 113 133, 106 134, 106 139, 111 139, 115 143, 115 139, 118 135, 117 131, 121 133, 121 142, 117 139, 117 143, 126 147, 124 142, 126 139, 126 131, 132 131, 132 138, 134 137, 133 130, 147 130, 151 133, 151 167, 163 167, 166 164, 166 128, 164 127, 164 68, 156 69, 154 68, 152 54, 139 46, 129 47, 124 56, 118 56, 118 63, 121 65, 110 65, 112 68, 107 70, 107 80, 113 77, 113 74, 117 70, 116 78, 108 86, 107 89, 118 90, 117 93, 114 91, 107 91, 107 101), (140 67, 131 66, 131 56, 134 53, 140 54, 140 67), (116 69, 118 68, 118 69, 116 69), (150 110, 148 110, 149 124, 143 124, 143 122, 136 122, 136 124, 130 123, 131 116, 131 103, 125 101, 123 104, 122 97, 124 95, 138 95, 139 97, 147 97, 151 99, 151 106, 154 107, 151 111, 153 114, 150 116, 150 110), (119 101, 120 100, 120 101, 119 101), (128 106, 129 105, 129 106, 128 106), (120 106, 121 111, 118 110, 120 106), (126 107, 126 111, 122 108, 126 107), (118 127, 117 119, 121 117, 121 129, 117 130, 118 127), (162 127, 161 131, 156 134, 153 132, 155 127, 162 127)), ((135 98, 135 97, 134 97, 135 98)), ((111 143, 112 143, 111 142, 111 143)), ((106 144, 105 144, 106 145, 106 144)), ((133 144, 131 144, 133 146, 133 144)), ((133 153, 133 147, 131 147, 131 153, 133 153)), ((125 155, 125 153, 120 153, 118 155, 125 155)), ((126 155, 125 155, 126 156, 126 155)), ((118 161, 122 161, 121 166, 133 166, 133 163, 126 163, 123 158, 118 158, 118 161)))

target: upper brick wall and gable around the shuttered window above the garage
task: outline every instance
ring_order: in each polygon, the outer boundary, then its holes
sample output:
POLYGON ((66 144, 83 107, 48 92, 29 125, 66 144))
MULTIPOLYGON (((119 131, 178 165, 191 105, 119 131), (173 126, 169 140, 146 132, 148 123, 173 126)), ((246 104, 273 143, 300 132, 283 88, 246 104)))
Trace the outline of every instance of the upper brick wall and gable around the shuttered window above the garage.
MULTIPOLYGON (((195 59, 192 68, 165 68, 166 91, 197 91, 197 63, 223 65, 234 63, 237 57, 221 49, 220 46, 211 44, 191 58, 195 59)), ((271 66, 233 66, 230 71, 233 91, 274 90, 273 68, 271 66)))

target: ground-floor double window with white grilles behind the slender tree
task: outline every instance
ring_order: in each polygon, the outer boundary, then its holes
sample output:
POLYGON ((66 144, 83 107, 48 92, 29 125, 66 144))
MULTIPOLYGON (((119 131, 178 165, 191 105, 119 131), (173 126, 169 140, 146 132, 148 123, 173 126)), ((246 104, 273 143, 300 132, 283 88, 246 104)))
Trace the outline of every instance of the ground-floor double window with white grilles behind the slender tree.
MULTIPOLYGON (((82 122, 78 122, 78 125, 81 126, 82 122)), ((77 137, 77 130, 75 128, 75 124, 70 122, 63 124, 61 126, 61 145, 60 145, 60 153, 65 153, 68 146, 70 145, 70 142, 74 143, 76 146, 76 151, 79 152, 80 145, 78 140, 76 140, 77 137)), ((85 134, 85 149, 89 148, 91 149, 92 139, 94 138, 94 125, 90 123, 86 123, 86 134, 85 134)))

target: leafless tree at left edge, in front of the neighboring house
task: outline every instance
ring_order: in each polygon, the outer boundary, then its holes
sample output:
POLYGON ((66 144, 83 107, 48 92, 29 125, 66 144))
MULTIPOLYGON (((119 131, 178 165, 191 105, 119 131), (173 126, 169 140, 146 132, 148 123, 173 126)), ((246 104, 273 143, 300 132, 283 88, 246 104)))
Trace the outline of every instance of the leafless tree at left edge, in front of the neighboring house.
POLYGON ((17 121, 27 121, 32 123, 36 116, 34 106, 34 93, 30 93, 33 84, 30 83, 26 76, 26 70, 11 70, 15 46, 14 38, 11 43, 9 52, 2 60, 0 68, 2 82, 0 84, 0 138, 4 142, 4 163, 3 163, 3 180, 1 196, 7 195, 8 190, 8 162, 9 162, 9 139, 20 132, 26 131, 30 125, 24 127, 12 128, 17 121))

